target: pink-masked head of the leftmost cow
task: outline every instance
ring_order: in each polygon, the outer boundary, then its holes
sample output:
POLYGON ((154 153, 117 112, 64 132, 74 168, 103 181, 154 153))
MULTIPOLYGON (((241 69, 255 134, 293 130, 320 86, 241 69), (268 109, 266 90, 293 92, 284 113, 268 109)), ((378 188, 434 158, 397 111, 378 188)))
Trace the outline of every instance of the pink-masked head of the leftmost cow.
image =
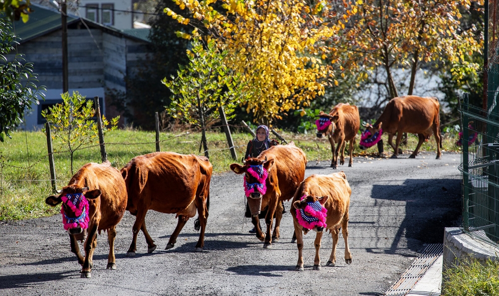
POLYGON ((88 228, 88 200, 96 199, 101 191, 98 189, 88 190, 88 187, 65 186, 59 195, 51 195, 45 199, 45 203, 55 207, 62 202, 61 214, 64 230, 69 234, 79 234, 88 228))

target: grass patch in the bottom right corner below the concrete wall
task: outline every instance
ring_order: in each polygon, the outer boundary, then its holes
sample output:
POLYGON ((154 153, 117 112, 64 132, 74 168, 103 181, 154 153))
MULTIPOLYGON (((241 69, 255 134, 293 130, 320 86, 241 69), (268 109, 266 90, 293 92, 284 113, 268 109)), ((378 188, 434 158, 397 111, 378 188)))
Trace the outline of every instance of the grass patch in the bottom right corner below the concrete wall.
POLYGON ((442 296, 499 295, 499 262, 488 260, 484 265, 474 259, 444 272, 446 279, 442 296))

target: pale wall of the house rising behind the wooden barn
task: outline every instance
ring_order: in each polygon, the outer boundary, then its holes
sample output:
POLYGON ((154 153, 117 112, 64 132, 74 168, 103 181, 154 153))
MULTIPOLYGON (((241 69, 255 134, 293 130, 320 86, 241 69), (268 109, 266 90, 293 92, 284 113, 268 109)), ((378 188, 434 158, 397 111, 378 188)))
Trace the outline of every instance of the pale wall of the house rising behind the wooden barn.
POLYGON ((88 4, 98 4, 98 22, 102 23, 102 4, 113 4, 114 5, 114 23, 111 25, 117 29, 131 29, 133 28, 133 13, 123 12, 116 10, 132 11, 132 0, 80 0, 78 7, 78 13, 82 17, 86 17, 87 9, 85 7, 88 4))

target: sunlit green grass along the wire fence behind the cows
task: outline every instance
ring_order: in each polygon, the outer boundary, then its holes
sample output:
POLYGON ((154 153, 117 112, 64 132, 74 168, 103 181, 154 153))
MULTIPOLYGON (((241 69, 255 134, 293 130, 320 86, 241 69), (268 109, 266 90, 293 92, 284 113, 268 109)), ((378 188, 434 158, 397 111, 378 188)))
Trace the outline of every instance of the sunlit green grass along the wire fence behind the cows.
MULTIPOLYGON (((182 134, 161 133, 160 140, 182 134)), ((45 205, 45 198, 51 195, 50 173, 48 167, 46 137, 42 132, 16 132, 12 139, 6 139, 0 143, 0 220, 19 220, 34 217, 50 216, 56 214, 59 209, 50 208, 45 205), (27 147, 26 147, 27 141, 27 147)), ((303 149, 308 161, 331 160, 330 145, 327 139, 317 139, 315 134, 294 134, 282 132, 281 135, 289 142, 303 149)), ((234 144, 242 146, 237 148, 239 162, 246 152, 246 145, 251 139, 248 133, 233 133, 234 144)), ((360 136, 358 136, 360 139, 360 136)), ((357 143, 358 143, 357 139, 357 143)), ((161 151, 174 151, 182 154, 199 153, 201 133, 193 132, 187 136, 174 138, 161 143, 161 151)), ((234 162, 230 150, 217 150, 227 148, 225 133, 208 132, 208 148, 211 150, 210 161, 213 164, 214 173, 229 171, 229 165, 234 162)), ((111 164, 121 169, 130 159, 156 151, 155 133, 134 130, 116 130, 106 134, 105 142, 108 160, 111 164), (112 144, 112 143, 148 143, 148 144, 112 144)), ((388 147, 386 140, 385 152, 391 155, 392 149, 388 147)), ((444 138, 444 150, 457 150, 454 146, 456 139, 444 138)), ((402 149, 414 149, 417 136, 410 135, 409 143, 402 149)), ((53 143, 58 148, 57 143, 53 143)), ((435 141, 433 138, 425 142, 421 151, 435 153, 435 141)), ((71 178, 69 153, 57 153, 66 150, 60 148, 54 150, 55 173, 57 188, 67 185, 71 178)), ((361 151, 355 147, 355 156, 372 157, 377 155, 376 147, 367 151, 361 151)), ((346 160, 346 162, 348 159, 346 160)), ((76 172, 82 165, 88 162, 101 162, 100 148, 92 147, 78 150, 74 153, 73 170, 76 172)))

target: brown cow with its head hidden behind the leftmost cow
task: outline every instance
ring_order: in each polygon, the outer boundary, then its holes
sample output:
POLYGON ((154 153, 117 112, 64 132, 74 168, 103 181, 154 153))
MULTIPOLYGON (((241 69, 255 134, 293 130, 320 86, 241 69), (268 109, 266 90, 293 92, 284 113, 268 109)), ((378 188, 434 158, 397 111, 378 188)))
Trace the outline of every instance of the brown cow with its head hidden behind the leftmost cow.
POLYGON ((213 167, 208 158, 194 154, 155 152, 130 160, 121 169, 128 192, 126 209, 136 216, 132 243, 126 256, 135 256, 137 234, 142 230, 147 242, 147 253, 156 245, 147 233, 145 217, 148 210, 177 214, 178 223, 166 249, 171 249, 189 218, 196 215, 196 230, 201 229, 196 252, 205 246, 205 228, 210 207, 210 180, 213 167))

